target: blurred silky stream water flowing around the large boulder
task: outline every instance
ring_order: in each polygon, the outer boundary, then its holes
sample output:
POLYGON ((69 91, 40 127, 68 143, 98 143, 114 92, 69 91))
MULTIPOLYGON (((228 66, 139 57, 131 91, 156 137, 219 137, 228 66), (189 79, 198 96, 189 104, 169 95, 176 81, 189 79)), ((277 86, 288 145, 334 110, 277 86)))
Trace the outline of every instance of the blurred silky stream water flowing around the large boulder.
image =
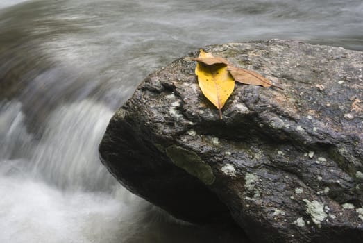
POLYGON ((146 74, 206 44, 363 50, 361 0, 1 0, 0 242, 233 242, 130 194, 99 162, 146 74))

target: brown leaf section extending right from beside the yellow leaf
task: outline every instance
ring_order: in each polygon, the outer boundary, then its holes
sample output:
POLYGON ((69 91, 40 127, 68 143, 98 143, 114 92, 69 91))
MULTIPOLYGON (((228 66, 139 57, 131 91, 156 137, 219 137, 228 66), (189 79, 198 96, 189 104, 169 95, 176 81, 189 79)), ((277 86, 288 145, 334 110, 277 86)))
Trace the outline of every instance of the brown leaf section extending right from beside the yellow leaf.
POLYGON ((239 83, 244 83, 246 85, 261 85, 263 87, 278 87, 283 90, 282 87, 277 85, 273 85, 269 79, 265 78, 261 74, 257 72, 253 72, 251 70, 235 67, 232 65, 228 65, 228 71, 235 78, 235 81, 239 83))

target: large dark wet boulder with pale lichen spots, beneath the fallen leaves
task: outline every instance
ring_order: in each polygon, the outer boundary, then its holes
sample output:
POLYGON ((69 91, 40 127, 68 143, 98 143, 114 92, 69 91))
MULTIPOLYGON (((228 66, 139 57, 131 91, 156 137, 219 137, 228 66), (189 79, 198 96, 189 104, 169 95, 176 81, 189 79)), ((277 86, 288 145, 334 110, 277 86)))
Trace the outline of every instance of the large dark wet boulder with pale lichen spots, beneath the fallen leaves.
POLYGON ((112 117, 101 160, 180 219, 232 218, 252 242, 363 239, 363 53, 289 40, 206 47, 285 90, 203 97, 194 51, 148 76, 112 117))

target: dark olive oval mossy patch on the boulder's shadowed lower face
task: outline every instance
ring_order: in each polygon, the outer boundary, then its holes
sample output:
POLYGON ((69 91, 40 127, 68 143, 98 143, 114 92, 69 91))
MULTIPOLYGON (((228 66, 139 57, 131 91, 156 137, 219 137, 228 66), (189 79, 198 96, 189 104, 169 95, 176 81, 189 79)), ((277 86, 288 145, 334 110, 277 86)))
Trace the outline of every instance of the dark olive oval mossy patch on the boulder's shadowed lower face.
POLYGON ((167 156, 176 166, 199 178, 205 185, 212 185, 214 183, 215 177, 212 168, 201 160, 195 152, 176 145, 167 147, 166 152, 167 156))

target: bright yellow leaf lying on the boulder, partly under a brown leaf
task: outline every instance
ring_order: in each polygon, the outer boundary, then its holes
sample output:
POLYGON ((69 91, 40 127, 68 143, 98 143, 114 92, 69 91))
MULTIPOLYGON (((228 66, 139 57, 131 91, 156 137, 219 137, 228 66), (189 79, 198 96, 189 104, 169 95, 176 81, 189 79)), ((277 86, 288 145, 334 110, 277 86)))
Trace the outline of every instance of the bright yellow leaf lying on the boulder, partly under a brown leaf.
MULTIPOLYGON (((198 58, 214 58, 214 56, 201 50, 198 58)), ((232 94, 235 80, 230 76, 228 66, 225 63, 217 62, 206 65, 204 62, 197 61, 195 73, 198 76, 199 87, 201 87, 205 97, 218 108, 219 117, 222 119, 221 108, 232 94)))

